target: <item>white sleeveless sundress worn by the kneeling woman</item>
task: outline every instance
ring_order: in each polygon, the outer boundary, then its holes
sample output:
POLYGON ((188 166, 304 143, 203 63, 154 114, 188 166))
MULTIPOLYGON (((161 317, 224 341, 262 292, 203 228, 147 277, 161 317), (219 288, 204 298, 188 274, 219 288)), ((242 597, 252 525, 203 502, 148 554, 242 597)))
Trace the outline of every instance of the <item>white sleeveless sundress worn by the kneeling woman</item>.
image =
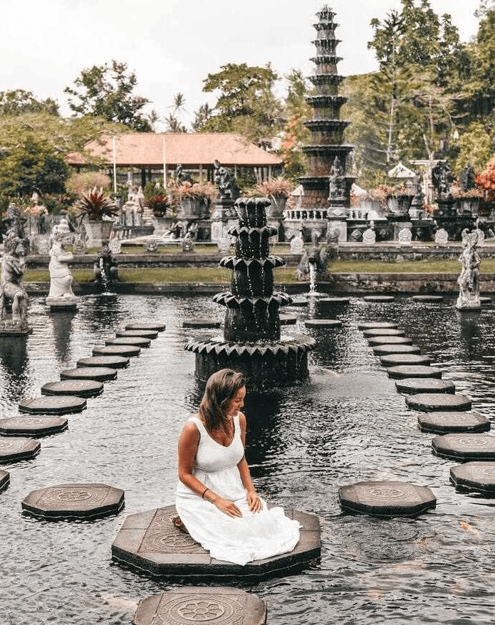
POLYGON ((291 552, 299 541, 299 522, 286 517, 282 508, 269 509, 262 499, 259 513, 249 510, 247 491, 237 468, 244 456, 239 413, 233 418, 234 438, 227 447, 209 436, 197 416, 189 421, 197 426, 200 436, 192 474, 217 495, 234 501, 242 513, 242 517, 229 517, 179 481, 175 507, 192 538, 215 560, 241 566, 291 552))

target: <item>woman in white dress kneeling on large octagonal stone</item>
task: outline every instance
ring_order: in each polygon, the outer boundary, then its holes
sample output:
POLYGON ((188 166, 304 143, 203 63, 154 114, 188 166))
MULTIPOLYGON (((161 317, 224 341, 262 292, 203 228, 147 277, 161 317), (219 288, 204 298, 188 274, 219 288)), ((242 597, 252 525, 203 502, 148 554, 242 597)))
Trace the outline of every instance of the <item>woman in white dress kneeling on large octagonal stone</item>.
POLYGON ((244 565, 291 552, 299 523, 268 509, 244 457, 244 376, 221 369, 207 382, 197 416, 179 436, 175 505, 189 534, 216 560, 244 565))

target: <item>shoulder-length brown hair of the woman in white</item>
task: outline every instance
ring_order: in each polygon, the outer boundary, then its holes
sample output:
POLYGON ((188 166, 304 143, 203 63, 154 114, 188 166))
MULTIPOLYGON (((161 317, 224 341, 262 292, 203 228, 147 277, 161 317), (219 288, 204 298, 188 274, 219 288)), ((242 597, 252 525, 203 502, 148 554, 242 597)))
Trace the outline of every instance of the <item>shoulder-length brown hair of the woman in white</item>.
POLYGON ((232 369, 220 369, 209 377, 199 406, 199 413, 208 432, 218 429, 229 431, 227 406, 236 392, 245 386, 244 375, 232 369))

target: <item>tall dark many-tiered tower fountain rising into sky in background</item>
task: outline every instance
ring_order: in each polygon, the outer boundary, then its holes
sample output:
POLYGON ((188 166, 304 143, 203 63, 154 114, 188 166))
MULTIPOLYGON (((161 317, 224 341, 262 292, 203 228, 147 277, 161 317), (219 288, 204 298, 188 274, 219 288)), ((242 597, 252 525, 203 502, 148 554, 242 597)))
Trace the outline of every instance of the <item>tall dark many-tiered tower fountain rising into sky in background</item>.
MULTIPOLYGON (((340 241, 347 238, 346 219, 350 206, 350 188, 355 180, 346 174, 349 169, 349 155, 354 146, 343 142, 343 133, 349 122, 340 120, 340 107, 347 101, 338 95, 338 87, 343 76, 337 73, 337 63, 341 58, 335 56, 335 49, 340 41, 335 38, 333 21, 335 13, 323 6, 316 14, 316 56, 311 58, 315 64, 313 83, 316 95, 306 98, 313 108, 313 119, 306 122, 311 131, 311 143, 303 147, 308 155, 308 175, 299 178, 303 187, 301 206, 288 210, 286 217, 290 221, 303 221, 308 231, 320 230, 321 234, 329 231, 338 233, 340 241)), ((288 221, 286 226, 293 226, 288 221)), ((309 233, 306 235, 309 236, 309 233)))

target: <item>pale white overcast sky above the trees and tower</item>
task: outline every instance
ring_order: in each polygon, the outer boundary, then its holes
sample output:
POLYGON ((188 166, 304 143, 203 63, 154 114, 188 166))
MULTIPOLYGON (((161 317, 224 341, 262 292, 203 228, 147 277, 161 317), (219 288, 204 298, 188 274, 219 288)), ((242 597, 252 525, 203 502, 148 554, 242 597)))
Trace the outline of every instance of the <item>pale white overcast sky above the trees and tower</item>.
MULTIPOLYGON (((430 0, 450 13, 463 41, 476 34, 479 0, 430 0)), ((265 65, 280 74, 311 73, 308 58, 316 0, 0 0, 0 90, 22 88, 51 96, 68 114, 63 89, 80 70, 115 58, 137 76, 136 93, 159 115, 171 112, 174 93, 186 100, 184 121, 200 105, 214 105, 202 80, 226 63, 265 65)), ((333 0, 342 41, 339 73, 377 68, 367 49, 370 20, 400 0, 333 0)))

